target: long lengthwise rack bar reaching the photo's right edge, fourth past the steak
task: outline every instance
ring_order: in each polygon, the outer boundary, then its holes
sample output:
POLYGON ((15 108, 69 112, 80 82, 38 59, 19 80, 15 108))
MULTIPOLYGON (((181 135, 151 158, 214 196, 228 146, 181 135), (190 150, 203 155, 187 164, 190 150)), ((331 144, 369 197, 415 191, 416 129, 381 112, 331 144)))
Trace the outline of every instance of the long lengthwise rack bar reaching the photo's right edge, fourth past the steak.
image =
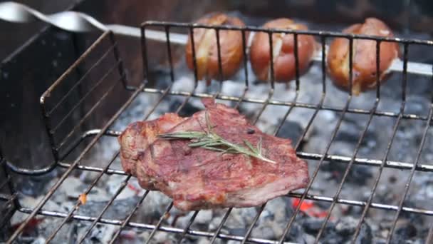
POLYGON ((422 138, 421 138, 421 143, 419 143, 419 149, 417 151, 417 157, 415 158, 414 164, 413 164, 414 166, 412 167, 412 170, 410 171, 410 176, 407 179, 407 183, 405 185, 405 193, 403 193, 403 195, 402 195, 402 199, 400 200, 400 203, 398 205, 397 213, 395 214, 394 221, 392 222, 392 228, 390 230, 390 233, 387 236, 387 243, 391 242, 392 234, 394 234, 394 230, 395 230, 395 225, 397 224, 397 220, 400 217, 400 213, 402 212, 403 204, 405 203, 407 193, 409 192, 410 183, 412 183, 412 178, 414 177, 414 174, 415 174, 415 171, 417 168, 416 166, 419 162, 419 158, 421 158, 422 148, 424 148, 425 139, 427 138, 427 132, 429 131, 430 123, 432 121, 432 116, 433 116, 433 104, 430 105, 429 119, 427 120, 426 126, 424 128, 424 133, 423 133, 422 138))

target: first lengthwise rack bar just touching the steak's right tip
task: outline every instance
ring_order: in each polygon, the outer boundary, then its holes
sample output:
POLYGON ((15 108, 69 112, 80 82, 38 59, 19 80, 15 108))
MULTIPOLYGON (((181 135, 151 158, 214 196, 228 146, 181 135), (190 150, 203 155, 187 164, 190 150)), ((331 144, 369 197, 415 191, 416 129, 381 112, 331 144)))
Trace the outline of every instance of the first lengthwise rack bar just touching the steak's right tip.
POLYGON ((329 148, 330 148, 331 144, 333 143, 333 141, 334 141, 334 139, 335 139, 335 136, 337 136, 338 129, 340 128, 341 122, 343 121, 343 118, 344 118, 344 116, 345 116, 345 113, 347 112, 347 109, 349 108, 349 105, 350 105, 350 101, 351 101, 351 100, 352 100, 352 96, 349 96, 349 97, 348 97, 348 101, 346 102, 346 105, 345 105, 345 110, 343 110, 343 112, 341 113, 341 116, 340 116, 340 118, 338 119, 337 125, 335 126, 335 129, 334 129, 334 131, 333 131, 333 133, 332 133, 332 135, 331 135, 331 138, 330 138, 330 140, 329 140, 329 142, 328 142, 328 145, 327 145, 326 148, 325 148, 325 153, 323 153, 322 158, 320 158, 320 161, 319 161, 319 163, 318 163, 318 166, 315 168, 315 171, 314 171, 314 173, 313 173, 313 177, 310 179, 310 182, 308 182, 307 188, 306 188, 306 190, 304 191, 304 193, 303 193, 303 195, 302 195, 302 197, 301 197, 301 201, 300 201, 300 203, 298 204, 298 206, 296 207, 296 210, 295 210, 295 212, 293 213, 293 215, 291 216, 290 220, 288 221, 288 224, 286 225, 286 228, 285 228, 284 231, 283 231, 283 235, 281 235, 281 238, 280 238, 280 240, 279 240, 279 243, 283 243, 284 238, 286 238, 286 235, 287 235, 287 233, 288 233, 288 230, 290 230, 291 226, 292 226, 293 223, 294 223, 294 220, 295 220, 295 218, 296 218, 296 215, 299 213, 299 210, 301 209, 301 204, 302 204, 303 200, 306 198, 306 195, 308 194, 308 191, 311 189, 311 185, 313 185, 313 181, 314 181, 315 177, 318 176, 318 172, 319 172, 319 170, 320 170, 320 166, 322 165, 323 160, 324 160, 324 158, 325 158, 325 155, 328 153, 329 148))

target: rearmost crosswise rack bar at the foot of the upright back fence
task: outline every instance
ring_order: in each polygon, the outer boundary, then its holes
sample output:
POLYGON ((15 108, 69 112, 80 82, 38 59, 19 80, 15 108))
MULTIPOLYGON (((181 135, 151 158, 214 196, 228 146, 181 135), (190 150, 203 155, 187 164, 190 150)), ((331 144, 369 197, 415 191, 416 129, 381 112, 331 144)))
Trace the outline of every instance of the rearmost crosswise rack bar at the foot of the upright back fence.
MULTIPOLYGON (((161 93, 162 92, 162 90, 157 89, 157 88, 145 88, 143 91, 145 93, 161 93)), ((173 95, 173 96, 193 96, 193 97, 197 97, 197 98, 212 98, 213 97, 209 93, 190 93, 189 91, 170 91, 169 94, 173 95)), ((265 103, 266 102, 266 100, 259 99, 259 98, 239 98, 237 96, 226 96, 226 95, 219 95, 216 98, 220 99, 220 100, 224 100, 224 101, 238 101, 238 102, 239 102, 239 99, 241 99, 243 102, 248 102, 248 103, 265 103)), ((291 106, 292 102, 270 100, 269 104, 270 105, 278 105, 278 106, 291 106)), ((312 103, 298 102, 295 104, 295 106, 299 107, 299 108, 309 108, 309 109, 315 109, 316 108, 316 104, 312 104, 312 103)), ((325 106, 325 105, 323 105, 321 109, 327 110, 327 111, 335 111, 335 112, 343 111, 343 108, 337 108, 335 106, 325 106)), ((369 115, 370 111, 365 110, 365 109, 361 109, 361 108, 348 108, 348 113, 357 113, 357 114, 369 115)), ((375 111, 375 116, 385 116, 385 117, 397 118, 398 114, 399 113, 387 112, 387 111, 375 111)), ((422 120, 422 121, 427 120, 427 116, 419 116, 419 115, 413 114, 413 113, 405 113, 405 114, 403 114, 402 118, 404 118, 404 119, 416 119, 416 120, 422 120)))

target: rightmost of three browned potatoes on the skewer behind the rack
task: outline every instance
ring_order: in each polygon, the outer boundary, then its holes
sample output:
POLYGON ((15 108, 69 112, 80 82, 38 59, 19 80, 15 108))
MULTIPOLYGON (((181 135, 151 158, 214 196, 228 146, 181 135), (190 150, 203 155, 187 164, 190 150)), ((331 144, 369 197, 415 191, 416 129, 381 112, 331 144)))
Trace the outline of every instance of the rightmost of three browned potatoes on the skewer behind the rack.
MULTIPOLYGON (((365 19, 363 24, 354 24, 343 30, 348 34, 393 37, 390 28, 375 18, 365 19)), ((380 82, 385 81, 385 71, 392 61, 399 56, 399 46, 395 42, 380 43, 380 82)), ((376 87, 376 42, 372 40, 353 40, 353 87, 352 92, 359 95, 361 91, 376 87)), ((328 51, 328 73, 333 82, 345 91, 349 90, 349 41, 336 38, 328 51)))

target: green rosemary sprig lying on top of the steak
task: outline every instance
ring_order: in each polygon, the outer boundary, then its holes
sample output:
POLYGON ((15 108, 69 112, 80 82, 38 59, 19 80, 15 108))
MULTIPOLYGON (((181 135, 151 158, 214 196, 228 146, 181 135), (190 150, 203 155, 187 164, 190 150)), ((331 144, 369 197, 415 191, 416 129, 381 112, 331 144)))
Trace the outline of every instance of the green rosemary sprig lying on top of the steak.
POLYGON ((167 140, 189 139, 191 143, 189 143, 188 146, 191 148, 205 148, 207 150, 219 151, 221 153, 242 153, 268 163, 276 163, 275 161, 263 156, 261 151, 261 138, 259 139, 259 143, 257 143, 256 147, 251 145, 249 141, 244 141, 245 146, 231 143, 212 131, 214 126, 211 125, 207 112, 205 113, 205 118, 207 123, 207 131, 180 131, 160 134, 159 137, 167 140))

